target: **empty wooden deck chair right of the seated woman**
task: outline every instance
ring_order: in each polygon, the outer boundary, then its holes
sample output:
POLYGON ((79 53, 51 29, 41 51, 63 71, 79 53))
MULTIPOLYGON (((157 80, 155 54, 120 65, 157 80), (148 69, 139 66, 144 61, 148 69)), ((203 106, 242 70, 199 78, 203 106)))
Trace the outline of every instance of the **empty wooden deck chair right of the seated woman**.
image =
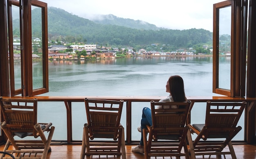
MULTIPOLYGON (((189 124, 191 133, 198 136, 192 141, 189 140, 189 152, 195 155, 231 155, 236 159, 231 139, 242 129, 236 126, 245 108, 246 102, 210 102, 207 101, 205 124, 189 124), (207 140, 208 139, 208 140, 207 140), (214 139, 214 141, 212 141, 214 139), (209 141, 211 140, 211 141, 209 141), (228 145, 228 150, 223 150, 228 145)), ((190 130, 189 133, 190 134, 190 130)), ((191 155, 194 156, 194 155, 191 155)))

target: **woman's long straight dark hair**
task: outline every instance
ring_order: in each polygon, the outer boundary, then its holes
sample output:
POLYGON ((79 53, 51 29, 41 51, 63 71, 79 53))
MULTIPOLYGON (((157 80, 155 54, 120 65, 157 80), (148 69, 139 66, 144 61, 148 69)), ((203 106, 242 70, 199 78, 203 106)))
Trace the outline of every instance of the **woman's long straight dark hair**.
POLYGON ((185 102, 184 83, 181 76, 171 76, 168 79, 171 96, 175 102, 185 102))

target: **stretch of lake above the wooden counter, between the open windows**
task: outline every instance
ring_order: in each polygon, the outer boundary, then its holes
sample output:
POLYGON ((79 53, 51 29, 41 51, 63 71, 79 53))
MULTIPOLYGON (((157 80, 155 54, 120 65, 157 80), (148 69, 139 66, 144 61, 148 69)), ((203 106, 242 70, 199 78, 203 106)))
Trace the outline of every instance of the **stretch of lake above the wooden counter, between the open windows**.
POLYGON ((213 96, 212 57, 49 61, 47 95, 168 96, 165 85, 173 75, 184 79, 186 96, 213 96))

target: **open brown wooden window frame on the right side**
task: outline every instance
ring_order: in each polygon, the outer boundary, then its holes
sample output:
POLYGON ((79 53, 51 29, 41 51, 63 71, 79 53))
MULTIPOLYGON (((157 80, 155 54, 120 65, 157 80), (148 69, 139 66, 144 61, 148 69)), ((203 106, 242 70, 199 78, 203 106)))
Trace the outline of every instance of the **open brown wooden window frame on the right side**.
POLYGON ((227 0, 213 4, 213 93, 245 96, 247 3, 227 0), (231 6, 230 89, 219 87, 219 9, 231 6))

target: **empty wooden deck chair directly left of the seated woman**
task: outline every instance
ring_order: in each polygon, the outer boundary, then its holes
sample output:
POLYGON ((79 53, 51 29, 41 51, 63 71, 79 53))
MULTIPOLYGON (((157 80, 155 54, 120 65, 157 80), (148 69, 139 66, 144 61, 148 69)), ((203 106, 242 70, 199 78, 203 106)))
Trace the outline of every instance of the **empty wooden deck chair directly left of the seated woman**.
POLYGON ((126 159, 124 127, 120 124, 124 100, 85 98, 88 123, 84 124, 81 159, 91 155, 121 156, 126 159), (93 142, 94 138, 115 141, 93 142))

